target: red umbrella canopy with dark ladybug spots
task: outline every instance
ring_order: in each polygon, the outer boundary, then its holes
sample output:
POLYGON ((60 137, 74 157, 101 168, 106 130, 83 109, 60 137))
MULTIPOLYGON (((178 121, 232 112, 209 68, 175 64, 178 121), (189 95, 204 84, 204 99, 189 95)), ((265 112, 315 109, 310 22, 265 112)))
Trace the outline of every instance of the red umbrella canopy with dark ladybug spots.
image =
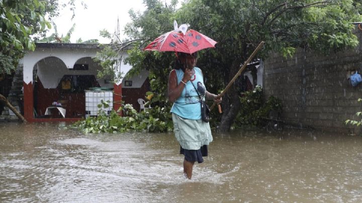
POLYGON ((174 51, 192 54, 202 49, 215 47, 215 42, 211 38, 195 31, 189 30, 185 33, 171 31, 157 37, 147 45, 146 51, 174 51))

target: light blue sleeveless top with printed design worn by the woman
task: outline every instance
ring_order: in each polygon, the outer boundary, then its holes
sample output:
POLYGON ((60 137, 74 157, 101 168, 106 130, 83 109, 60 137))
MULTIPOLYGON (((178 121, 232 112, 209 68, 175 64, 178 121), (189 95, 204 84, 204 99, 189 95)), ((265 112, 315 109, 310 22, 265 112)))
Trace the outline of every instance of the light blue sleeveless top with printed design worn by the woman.
MULTIPOLYGON (((194 70, 194 77, 186 83, 181 95, 173 103, 171 113, 177 114, 178 116, 185 119, 199 120, 201 119, 201 106, 199 102, 200 98, 193 84, 195 85, 203 100, 205 100, 206 88, 204 85, 204 78, 201 69, 194 67, 194 70)), ((184 78, 184 71, 182 69, 175 71, 177 76, 177 84, 179 84, 182 78, 184 78)))

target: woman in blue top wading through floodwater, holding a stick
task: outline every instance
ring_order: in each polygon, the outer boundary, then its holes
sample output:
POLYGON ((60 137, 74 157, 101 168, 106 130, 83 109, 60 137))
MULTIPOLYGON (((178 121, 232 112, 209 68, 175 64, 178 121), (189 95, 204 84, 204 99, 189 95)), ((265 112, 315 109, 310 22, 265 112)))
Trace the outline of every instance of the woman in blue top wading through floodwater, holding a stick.
MULTIPOLYGON (((168 77, 168 99, 171 109, 173 131, 180 144, 180 154, 185 155, 184 174, 191 179, 194 163, 202 163, 213 141, 209 123, 201 120, 200 97, 215 100, 217 95, 208 92, 200 68, 195 67, 196 53, 177 53, 175 67, 168 77)), ((215 100, 221 103, 221 98, 215 100)))

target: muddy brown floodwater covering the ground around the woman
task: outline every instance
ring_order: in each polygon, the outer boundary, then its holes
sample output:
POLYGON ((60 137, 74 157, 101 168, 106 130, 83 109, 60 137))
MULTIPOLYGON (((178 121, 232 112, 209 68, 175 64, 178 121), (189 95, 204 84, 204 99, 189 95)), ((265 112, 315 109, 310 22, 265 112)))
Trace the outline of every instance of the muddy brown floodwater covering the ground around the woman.
POLYGON ((361 202, 362 138, 214 133, 184 178, 173 134, 0 123, 0 202, 361 202))

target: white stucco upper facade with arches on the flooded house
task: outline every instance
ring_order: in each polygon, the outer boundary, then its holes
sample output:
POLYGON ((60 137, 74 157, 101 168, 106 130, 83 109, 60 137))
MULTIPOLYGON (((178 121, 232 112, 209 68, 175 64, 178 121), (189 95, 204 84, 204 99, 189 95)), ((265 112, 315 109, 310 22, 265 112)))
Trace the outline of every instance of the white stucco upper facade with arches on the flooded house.
MULTIPOLYGON (((97 76, 97 70, 101 67, 92 59, 92 57, 96 56, 97 51, 100 51, 100 49, 36 48, 34 52, 28 52, 21 60, 24 65, 24 82, 27 84, 33 82, 34 68, 37 69, 37 74, 45 88, 56 88, 63 75, 97 76), (72 70, 75 63, 88 64, 88 70, 72 70)), ((123 58, 126 57, 128 57, 128 54, 124 53, 123 58)), ((122 61, 118 70, 123 72, 124 75, 131 68, 132 67, 129 64, 124 64, 122 61)), ((138 77, 132 78, 133 85, 138 86, 139 83, 142 85, 147 78, 147 75, 148 72, 143 72, 138 77)), ((97 78, 97 81, 102 87, 113 87, 113 84, 105 83, 105 78, 97 78)), ((122 81, 124 81, 124 79, 119 81, 119 83, 122 81)))

